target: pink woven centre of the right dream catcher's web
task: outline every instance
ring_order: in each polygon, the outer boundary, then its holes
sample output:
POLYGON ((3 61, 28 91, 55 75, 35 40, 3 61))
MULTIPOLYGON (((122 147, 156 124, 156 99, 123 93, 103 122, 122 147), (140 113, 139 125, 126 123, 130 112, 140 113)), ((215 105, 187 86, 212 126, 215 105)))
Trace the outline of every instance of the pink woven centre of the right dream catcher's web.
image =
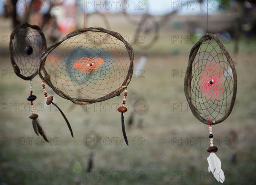
POLYGON ((221 67, 217 63, 210 62, 209 65, 204 66, 204 70, 201 71, 200 78, 201 93, 204 93, 204 97, 209 99, 214 98, 219 101, 219 97, 223 94, 223 74, 221 73, 221 67), (212 84, 209 82, 211 81, 212 84))

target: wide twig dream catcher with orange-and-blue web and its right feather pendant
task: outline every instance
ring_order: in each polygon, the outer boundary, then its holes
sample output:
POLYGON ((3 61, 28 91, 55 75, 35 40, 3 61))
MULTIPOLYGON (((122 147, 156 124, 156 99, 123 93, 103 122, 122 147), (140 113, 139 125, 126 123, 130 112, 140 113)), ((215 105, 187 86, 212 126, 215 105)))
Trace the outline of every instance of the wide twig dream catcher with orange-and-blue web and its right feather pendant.
POLYGON ((38 73, 43 83, 75 104, 105 101, 125 91, 118 111, 128 145, 123 113, 133 58, 132 47, 119 33, 100 27, 77 29, 44 51, 38 73))

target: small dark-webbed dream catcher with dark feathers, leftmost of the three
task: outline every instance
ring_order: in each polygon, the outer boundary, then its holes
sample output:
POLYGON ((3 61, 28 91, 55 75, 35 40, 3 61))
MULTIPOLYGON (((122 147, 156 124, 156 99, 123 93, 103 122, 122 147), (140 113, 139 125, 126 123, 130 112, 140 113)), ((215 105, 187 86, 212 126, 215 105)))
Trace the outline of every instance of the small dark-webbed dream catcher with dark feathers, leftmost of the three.
POLYGON ((23 80, 29 80, 30 93, 27 97, 31 104, 29 118, 32 119, 35 133, 37 135, 39 133, 48 142, 44 130, 38 123, 38 115, 34 112, 33 101, 37 97, 32 94, 32 79, 38 74, 40 56, 46 47, 44 33, 36 25, 21 23, 15 27, 10 36, 9 52, 15 74, 23 80))

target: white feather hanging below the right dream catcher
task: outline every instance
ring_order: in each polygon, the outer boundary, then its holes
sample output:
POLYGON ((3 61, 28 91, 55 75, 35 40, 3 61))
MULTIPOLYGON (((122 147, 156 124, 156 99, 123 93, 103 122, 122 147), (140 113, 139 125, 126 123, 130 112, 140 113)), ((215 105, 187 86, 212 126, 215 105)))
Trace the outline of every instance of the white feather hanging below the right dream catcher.
POLYGON ((221 160, 216 156, 214 152, 211 152, 207 157, 209 163, 208 171, 212 172, 213 176, 218 182, 223 183, 225 180, 224 172, 221 170, 221 160))

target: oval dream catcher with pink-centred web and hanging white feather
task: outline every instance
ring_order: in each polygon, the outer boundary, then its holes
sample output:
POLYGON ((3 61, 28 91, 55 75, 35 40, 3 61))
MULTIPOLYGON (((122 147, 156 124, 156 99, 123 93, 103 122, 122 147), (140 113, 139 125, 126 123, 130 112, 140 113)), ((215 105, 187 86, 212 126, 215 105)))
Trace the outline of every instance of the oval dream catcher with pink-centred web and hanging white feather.
POLYGON ((221 123, 230 115, 236 89, 236 69, 229 53, 216 35, 204 35, 191 49, 184 91, 194 116, 209 125, 208 170, 221 183, 225 176, 221 161, 215 154, 218 148, 213 145, 212 125, 221 123))

